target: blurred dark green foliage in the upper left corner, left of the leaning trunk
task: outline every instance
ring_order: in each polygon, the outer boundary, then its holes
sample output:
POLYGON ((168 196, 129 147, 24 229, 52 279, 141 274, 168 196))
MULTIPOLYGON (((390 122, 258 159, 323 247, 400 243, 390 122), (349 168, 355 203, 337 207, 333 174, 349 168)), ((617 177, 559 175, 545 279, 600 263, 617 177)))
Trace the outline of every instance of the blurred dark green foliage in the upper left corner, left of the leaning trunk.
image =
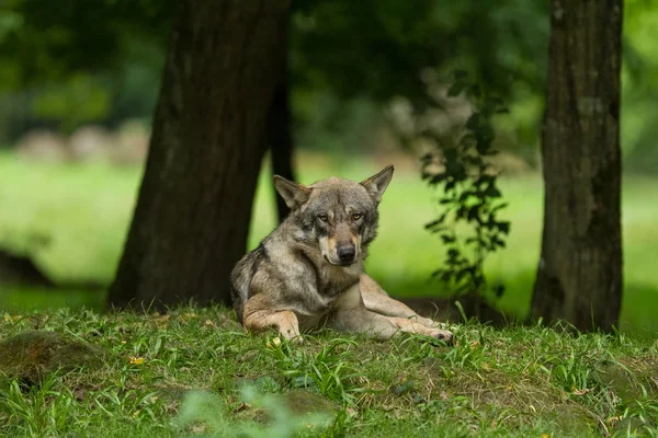
POLYGON ((0 143, 39 125, 150 117, 173 0, 7 0, 0 7, 0 143))

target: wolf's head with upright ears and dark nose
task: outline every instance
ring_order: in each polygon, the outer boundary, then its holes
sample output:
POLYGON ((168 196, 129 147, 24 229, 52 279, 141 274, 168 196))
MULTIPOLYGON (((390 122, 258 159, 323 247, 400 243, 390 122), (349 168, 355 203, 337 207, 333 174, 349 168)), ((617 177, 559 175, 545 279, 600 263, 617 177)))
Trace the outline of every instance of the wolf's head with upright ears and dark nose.
POLYGON ((377 206, 392 177, 388 165, 361 183, 331 176, 305 186, 274 175, 274 186, 297 226, 295 239, 318 245, 330 264, 350 266, 375 239, 377 206))

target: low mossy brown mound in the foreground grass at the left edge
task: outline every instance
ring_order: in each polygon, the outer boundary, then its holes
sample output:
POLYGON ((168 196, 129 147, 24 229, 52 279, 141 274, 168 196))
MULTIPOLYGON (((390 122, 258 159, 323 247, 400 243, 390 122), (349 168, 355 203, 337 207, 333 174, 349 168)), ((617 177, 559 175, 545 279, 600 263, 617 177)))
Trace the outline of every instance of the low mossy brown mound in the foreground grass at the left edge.
POLYGON ((100 347, 56 332, 32 330, 0 342, 0 372, 38 384, 58 369, 102 365, 100 347))

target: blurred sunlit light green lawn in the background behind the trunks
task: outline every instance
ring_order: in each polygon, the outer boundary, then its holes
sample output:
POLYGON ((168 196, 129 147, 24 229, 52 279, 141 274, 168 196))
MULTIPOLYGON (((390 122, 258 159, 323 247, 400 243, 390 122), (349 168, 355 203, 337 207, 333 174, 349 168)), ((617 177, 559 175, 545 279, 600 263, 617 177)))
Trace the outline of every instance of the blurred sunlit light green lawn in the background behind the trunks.
MULTIPOLYGON (((394 162, 395 164, 395 162, 394 162)), ((300 181, 309 183, 330 174, 363 178, 384 165, 373 160, 306 159, 300 181)), ((0 244, 36 256, 59 281, 111 281, 129 224, 141 171, 103 164, 48 165, 25 163, 0 154, 0 244), (43 240, 43 247, 31 244, 43 240)), ((251 224, 253 247, 275 224, 269 168, 262 173, 251 224)), ((508 289, 499 306, 527 313, 540 255, 542 181, 538 175, 501 182, 510 201, 506 215, 512 231, 506 251, 487 263, 487 273, 508 289)), ((441 263, 439 239, 423 224, 438 216, 435 195, 417 172, 398 169, 381 206, 379 237, 372 245, 368 272, 393 295, 422 296, 445 292, 429 277, 441 263)), ((658 276, 654 272, 658 247, 658 181, 628 177, 623 193, 624 302, 621 326, 639 334, 658 332, 658 276)), ((89 292, 24 290, 0 291, 0 308, 57 308, 61 304, 100 308, 102 297, 89 292), (46 295, 47 293, 47 295, 46 295)))

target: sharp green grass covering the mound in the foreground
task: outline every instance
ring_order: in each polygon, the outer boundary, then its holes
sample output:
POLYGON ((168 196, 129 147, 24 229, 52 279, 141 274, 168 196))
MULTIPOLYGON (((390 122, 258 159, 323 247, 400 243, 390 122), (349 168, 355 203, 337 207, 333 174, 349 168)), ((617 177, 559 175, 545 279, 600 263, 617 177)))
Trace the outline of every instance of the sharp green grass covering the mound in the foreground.
POLYGON ((0 316, 0 341, 34 327, 112 356, 35 387, 0 374, 0 436, 280 438, 295 419, 316 437, 622 437, 636 427, 658 436, 658 344, 623 334, 469 323, 454 347, 330 331, 298 345, 246 334, 219 308, 61 309, 0 316), (261 395, 245 404, 245 388, 261 395), (309 428, 309 418, 281 412, 291 391, 321 395, 334 414, 309 428), (268 408, 270 428, 253 422, 268 408))

